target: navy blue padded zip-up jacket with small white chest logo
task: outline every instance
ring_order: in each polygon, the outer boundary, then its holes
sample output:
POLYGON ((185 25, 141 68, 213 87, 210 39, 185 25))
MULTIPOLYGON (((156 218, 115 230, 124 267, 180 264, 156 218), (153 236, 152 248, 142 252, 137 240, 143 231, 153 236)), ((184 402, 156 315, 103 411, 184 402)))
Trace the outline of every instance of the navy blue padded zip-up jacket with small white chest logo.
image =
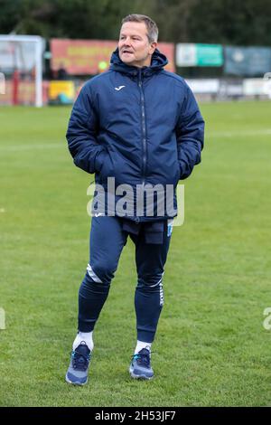
POLYGON ((109 70, 80 90, 67 131, 70 154, 105 190, 108 176, 116 186, 176 187, 201 162, 201 112, 186 82, 164 71, 166 64, 156 49, 150 67, 127 66, 117 49, 109 70))

